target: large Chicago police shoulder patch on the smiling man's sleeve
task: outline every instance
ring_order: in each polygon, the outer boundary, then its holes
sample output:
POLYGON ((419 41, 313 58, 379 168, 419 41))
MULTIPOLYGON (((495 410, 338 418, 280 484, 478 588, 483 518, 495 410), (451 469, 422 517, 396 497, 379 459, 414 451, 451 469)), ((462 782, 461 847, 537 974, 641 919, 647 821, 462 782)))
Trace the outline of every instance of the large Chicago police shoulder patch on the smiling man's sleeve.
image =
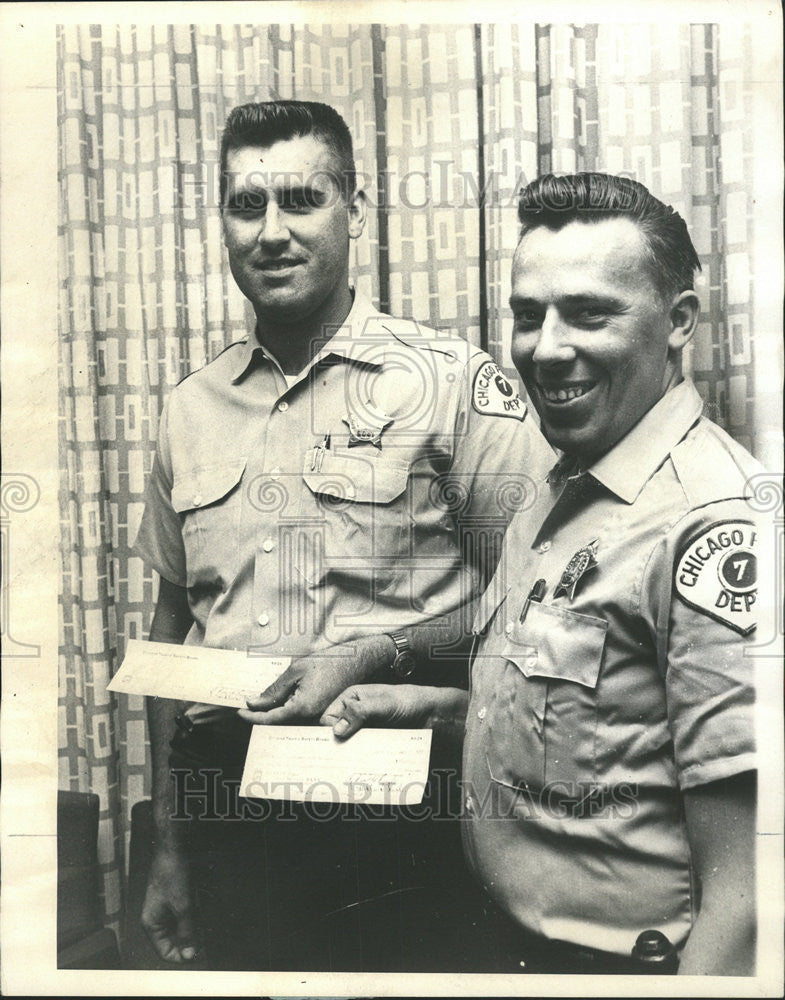
POLYGON ((702 529, 676 562, 676 593, 689 607, 749 635, 756 625, 756 541, 751 521, 717 521, 702 529))

